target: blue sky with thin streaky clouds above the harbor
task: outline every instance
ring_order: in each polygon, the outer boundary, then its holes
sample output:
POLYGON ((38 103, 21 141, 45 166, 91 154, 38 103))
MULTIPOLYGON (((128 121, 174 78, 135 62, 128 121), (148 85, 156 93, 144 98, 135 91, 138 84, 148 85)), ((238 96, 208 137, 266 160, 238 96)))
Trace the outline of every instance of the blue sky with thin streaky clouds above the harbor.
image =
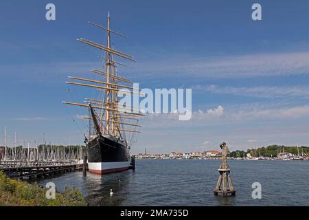
MULTIPOLYGON (((247 149, 254 144, 309 145, 308 1, 3 1, 0 3, 0 132, 8 142, 82 144, 87 112, 64 106, 87 89, 67 76, 91 77, 100 52, 78 43, 104 43, 105 25, 137 63, 119 74, 146 88, 192 88, 192 120, 144 119, 133 153, 247 149), (45 5, 56 5, 56 21, 45 5), (262 5, 262 21, 251 5, 262 5), (71 92, 68 92, 68 88, 71 92)), ((0 144, 3 144, 0 135, 0 144)))

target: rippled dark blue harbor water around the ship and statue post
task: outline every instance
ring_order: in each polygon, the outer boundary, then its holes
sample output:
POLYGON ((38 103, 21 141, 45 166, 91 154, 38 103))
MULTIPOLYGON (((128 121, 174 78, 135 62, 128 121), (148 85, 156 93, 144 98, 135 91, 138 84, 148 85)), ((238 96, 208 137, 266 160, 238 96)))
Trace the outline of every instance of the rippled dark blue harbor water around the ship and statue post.
POLYGON ((309 161, 229 160, 236 197, 214 195, 221 160, 139 159, 136 170, 37 179, 78 188, 90 206, 309 206, 309 161), (253 199, 252 184, 262 186, 253 199), (114 195, 110 196, 110 189, 114 195))

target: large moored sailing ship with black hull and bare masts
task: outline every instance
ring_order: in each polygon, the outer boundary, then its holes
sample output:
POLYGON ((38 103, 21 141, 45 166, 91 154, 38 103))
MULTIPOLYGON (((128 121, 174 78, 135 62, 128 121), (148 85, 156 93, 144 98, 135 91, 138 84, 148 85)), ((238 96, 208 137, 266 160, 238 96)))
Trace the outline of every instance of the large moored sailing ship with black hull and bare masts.
POLYGON ((93 69, 91 72, 100 78, 98 80, 89 78, 78 78, 69 76, 69 85, 78 85, 81 87, 92 87, 95 98, 85 98, 84 103, 63 102, 78 107, 87 107, 89 115, 80 118, 89 120, 89 135, 85 136, 84 142, 87 145, 88 168, 91 173, 115 173, 128 170, 130 167, 130 145, 128 134, 140 133, 138 128, 139 116, 145 116, 139 113, 137 107, 125 104, 119 104, 119 91, 126 93, 126 96, 140 94, 139 88, 133 87, 133 83, 122 78, 117 73, 117 66, 126 66, 123 63, 116 62, 115 58, 124 58, 128 61, 136 62, 133 56, 119 52, 111 47, 111 35, 128 38, 119 34, 110 28, 110 14, 108 12, 107 28, 101 25, 89 22, 106 32, 107 45, 100 45, 87 39, 78 39, 77 41, 98 48, 106 56, 103 59, 102 69, 93 69), (84 81, 87 83, 78 83, 84 81), (90 84, 91 83, 91 84, 90 84), (122 89, 122 90, 121 90, 122 89), (127 126, 130 126, 128 129, 127 126), (133 129, 132 129, 133 128, 133 129))

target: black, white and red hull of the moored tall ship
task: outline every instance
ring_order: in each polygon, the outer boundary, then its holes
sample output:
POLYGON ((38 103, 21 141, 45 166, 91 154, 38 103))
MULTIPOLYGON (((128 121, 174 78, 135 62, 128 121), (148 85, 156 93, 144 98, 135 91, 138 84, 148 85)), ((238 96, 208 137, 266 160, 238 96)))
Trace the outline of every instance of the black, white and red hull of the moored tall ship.
POLYGON ((130 167, 128 148, 101 135, 87 144, 87 153, 91 173, 115 173, 130 167))

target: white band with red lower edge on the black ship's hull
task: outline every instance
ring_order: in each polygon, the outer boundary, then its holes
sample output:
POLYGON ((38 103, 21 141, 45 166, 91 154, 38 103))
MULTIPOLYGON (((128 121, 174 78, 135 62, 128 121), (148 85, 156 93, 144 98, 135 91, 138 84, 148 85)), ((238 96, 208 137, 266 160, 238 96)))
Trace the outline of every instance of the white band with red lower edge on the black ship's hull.
POLYGON ((130 162, 89 162, 88 169, 91 173, 115 173, 123 170, 128 170, 130 162))

